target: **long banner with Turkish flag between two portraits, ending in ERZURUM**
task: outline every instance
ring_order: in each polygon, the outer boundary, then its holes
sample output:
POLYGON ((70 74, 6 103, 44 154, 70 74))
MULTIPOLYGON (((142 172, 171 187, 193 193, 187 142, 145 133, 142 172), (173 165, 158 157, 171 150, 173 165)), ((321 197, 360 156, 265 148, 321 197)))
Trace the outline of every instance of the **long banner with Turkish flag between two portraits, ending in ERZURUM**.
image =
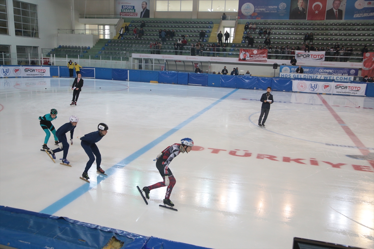
POLYGON ((374 1, 239 0, 239 19, 373 20, 374 1))

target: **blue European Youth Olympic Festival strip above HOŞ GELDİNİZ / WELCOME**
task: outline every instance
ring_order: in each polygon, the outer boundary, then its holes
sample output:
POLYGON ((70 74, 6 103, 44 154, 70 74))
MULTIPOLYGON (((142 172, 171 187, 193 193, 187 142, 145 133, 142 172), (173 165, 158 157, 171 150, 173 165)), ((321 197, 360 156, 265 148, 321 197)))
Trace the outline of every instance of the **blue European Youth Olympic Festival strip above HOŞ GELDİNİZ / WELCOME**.
MULTIPOLYGON (((298 66, 281 65, 282 73, 295 73, 298 66)), ((327 68, 318 66, 303 66, 304 74, 326 74, 326 75, 346 75, 357 76, 358 68, 327 68)))

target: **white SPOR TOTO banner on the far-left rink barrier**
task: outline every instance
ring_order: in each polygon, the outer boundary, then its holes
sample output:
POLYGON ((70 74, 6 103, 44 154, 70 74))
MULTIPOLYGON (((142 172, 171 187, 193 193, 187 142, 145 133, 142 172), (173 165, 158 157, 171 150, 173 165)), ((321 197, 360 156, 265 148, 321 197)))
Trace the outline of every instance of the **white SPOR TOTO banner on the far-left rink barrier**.
POLYGON ((1 66, 0 77, 50 77, 48 66, 1 66))

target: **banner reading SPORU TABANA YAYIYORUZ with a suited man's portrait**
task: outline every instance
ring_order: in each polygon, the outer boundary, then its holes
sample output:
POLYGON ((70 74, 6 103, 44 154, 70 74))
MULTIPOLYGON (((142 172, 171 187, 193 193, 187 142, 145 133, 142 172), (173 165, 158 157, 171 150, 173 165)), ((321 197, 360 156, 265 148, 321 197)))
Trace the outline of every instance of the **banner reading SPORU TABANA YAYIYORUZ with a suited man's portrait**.
POLYGON ((116 13, 124 17, 149 18, 149 0, 116 1, 116 13))

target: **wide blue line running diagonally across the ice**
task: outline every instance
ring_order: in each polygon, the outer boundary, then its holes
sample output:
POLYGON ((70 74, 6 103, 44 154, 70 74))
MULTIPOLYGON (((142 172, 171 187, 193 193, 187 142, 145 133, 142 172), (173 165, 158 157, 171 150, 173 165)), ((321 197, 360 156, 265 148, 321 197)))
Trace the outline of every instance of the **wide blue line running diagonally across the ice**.
MULTIPOLYGON (((132 153, 128 157, 124 158, 122 161, 118 162, 117 164, 111 166, 107 170, 105 170, 105 173, 108 175, 108 177, 116 172, 118 168, 124 168, 126 165, 143 155, 144 153, 148 152, 148 150, 152 149, 157 144, 161 143, 166 138, 170 137, 175 132, 179 131, 181 128, 189 124, 194 119, 201 116, 206 111, 209 111, 211 108, 213 108, 215 105, 219 104, 222 100, 229 97, 231 94, 236 92, 239 89, 234 89, 230 93, 227 93, 225 96, 221 97, 221 99, 216 100, 211 105, 207 106, 206 108, 202 109, 201 111, 197 112, 196 114, 192 115, 190 118, 186 119, 185 121, 181 122, 171 130, 167 131, 166 133, 162 134, 160 137, 156 138, 155 140, 151 141, 141 149, 137 150, 136 152, 132 153)), ((97 183, 91 181, 90 184, 83 184, 82 186, 78 187, 77 189, 73 190, 72 192, 68 193, 61 199, 57 200, 56 202, 52 203, 51 205, 47 206, 45 209, 40 211, 40 213, 44 214, 50 214, 53 215, 60 209, 64 208, 74 200, 76 200, 78 197, 82 196, 84 193, 88 192, 90 189, 95 189, 95 187, 102 181, 105 180, 107 177, 100 177, 100 175, 97 176, 97 183)), ((77 176, 77 180, 78 180, 77 176)))

